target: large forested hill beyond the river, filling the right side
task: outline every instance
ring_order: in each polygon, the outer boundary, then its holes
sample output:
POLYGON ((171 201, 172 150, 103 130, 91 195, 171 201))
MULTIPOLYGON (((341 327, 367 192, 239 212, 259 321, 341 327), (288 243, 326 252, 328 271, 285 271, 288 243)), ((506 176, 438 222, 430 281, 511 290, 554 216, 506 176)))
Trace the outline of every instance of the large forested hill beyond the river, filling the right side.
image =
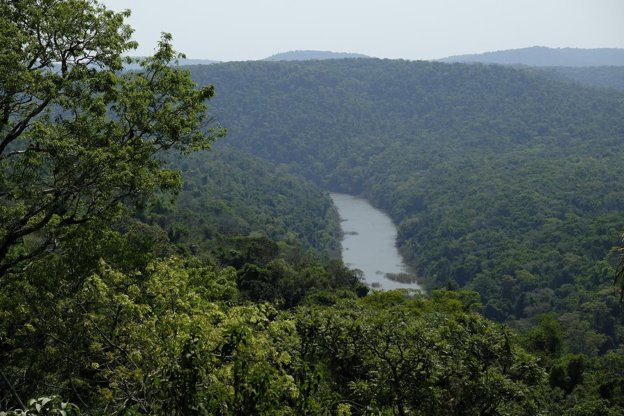
POLYGON ((609 250, 624 222, 623 94, 511 67, 379 59, 192 76, 218 85, 211 109, 230 144, 388 210, 431 285, 475 289, 487 317, 521 328, 552 312, 572 352, 622 342, 609 250))

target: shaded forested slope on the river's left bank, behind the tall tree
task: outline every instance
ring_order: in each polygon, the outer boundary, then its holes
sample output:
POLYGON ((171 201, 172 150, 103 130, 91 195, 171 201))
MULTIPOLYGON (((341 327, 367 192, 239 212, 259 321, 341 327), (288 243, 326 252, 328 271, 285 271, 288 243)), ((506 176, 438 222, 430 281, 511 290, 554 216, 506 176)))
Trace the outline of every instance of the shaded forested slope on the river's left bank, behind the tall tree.
POLYGON ((213 237, 261 234, 321 257, 340 255, 338 214, 327 192, 259 157, 218 146, 210 154, 170 158, 184 186, 175 201, 136 217, 167 230, 202 260, 213 237))

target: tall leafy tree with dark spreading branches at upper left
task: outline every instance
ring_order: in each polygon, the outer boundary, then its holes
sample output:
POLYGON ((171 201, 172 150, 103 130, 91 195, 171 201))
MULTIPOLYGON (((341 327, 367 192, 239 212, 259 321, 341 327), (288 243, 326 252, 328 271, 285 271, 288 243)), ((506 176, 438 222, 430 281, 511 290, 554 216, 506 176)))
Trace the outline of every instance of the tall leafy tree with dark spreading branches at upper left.
POLYGON ((209 149, 214 86, 197 88, 163 33, 154 56, 94 0, 0 2, 0 281, 80 224, 112 219, 180 175, 158 154, 209 149), (140 71, 120 74, 126 62, 140 71))

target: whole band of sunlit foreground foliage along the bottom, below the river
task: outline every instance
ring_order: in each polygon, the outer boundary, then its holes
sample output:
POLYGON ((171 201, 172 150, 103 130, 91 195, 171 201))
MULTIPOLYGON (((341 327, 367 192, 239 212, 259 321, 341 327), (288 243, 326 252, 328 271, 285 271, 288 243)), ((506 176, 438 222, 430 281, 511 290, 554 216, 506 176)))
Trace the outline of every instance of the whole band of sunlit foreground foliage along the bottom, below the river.
MULTIPOLYGON (((19 372, 24 380, 15 384, 21 394, 60 390, 94 414, 540 406, 527 398, 545 386, 545 374, 509 330, 472 310, 475 294, 381 292, 280 312, 241 303, 248 288, 238 275, 253 269, 295 278, 284 260, 215 274, 193 259, 153 259, 166 250, 150 227, 93 233, 97 250, 68 241, 66 255, 50 255, 32 266, 29 281, 2 289, 4 311, 13 311, 4 319, 2 362, 9 379, 19 372), (11 296, 16 287, 23 297, 11 296)), ((310 285, 287 287, 316 293, 330 270, 310 265, 310 285)), ((273 286, 284 287, 280 281, 273 286)))

